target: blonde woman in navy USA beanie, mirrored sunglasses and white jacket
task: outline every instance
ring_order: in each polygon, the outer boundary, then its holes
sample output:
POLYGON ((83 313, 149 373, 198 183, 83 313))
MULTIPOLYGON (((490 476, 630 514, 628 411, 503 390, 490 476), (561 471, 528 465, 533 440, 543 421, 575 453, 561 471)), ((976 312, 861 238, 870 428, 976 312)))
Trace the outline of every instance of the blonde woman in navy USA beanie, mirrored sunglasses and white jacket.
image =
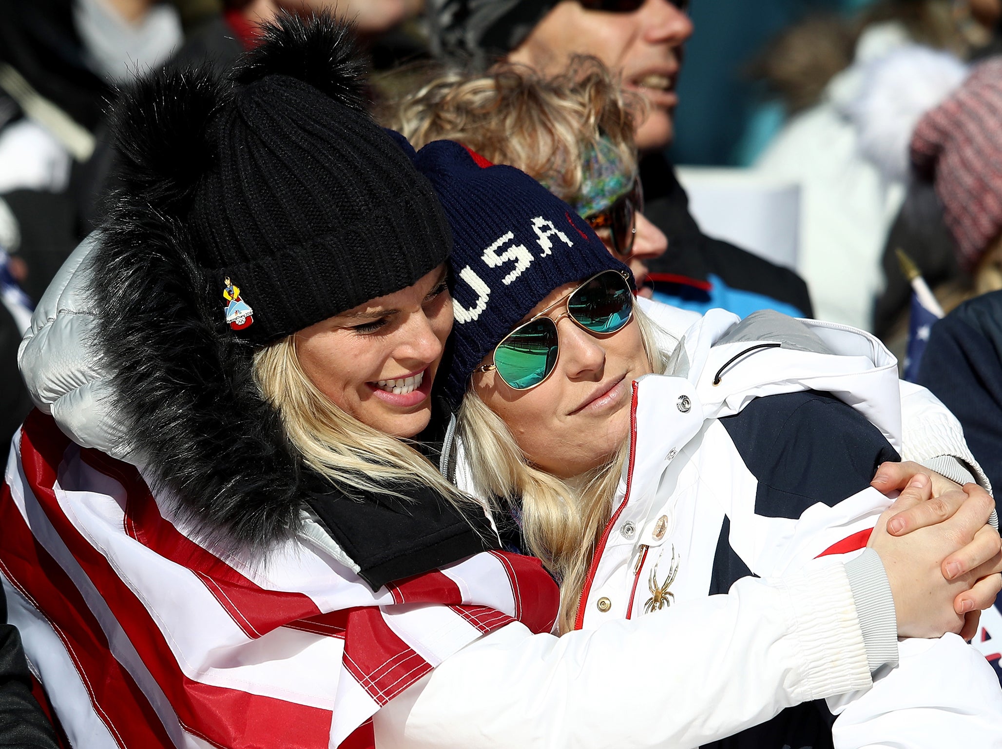
MULTIPOLYGON (((444 398, 459 405, 452 474, 513 507, 527 547, 561 582, 568 652, 582 640, 646 647, 600 677, 580 661, 580 699, 558 715, 526 699, 525 721, 506 729, 511 745, 571 724, 575 746, 602 746, 609 710, 630 739, 663 746, 997 743, 994 672, 944 635, 964 626, 964 607, 950 603, 959 579, 940 572, 950 549, 923 543, 926 560, 899 567, 889 546, 902 539, 883 527, 890 500, 870 486, 901 445, 897 368, 872 337, 712 311, 666 356, 627 269, 566 204, 452 141, 426 145, 415 163, 453 230, 454 353, 439 373, 444 398), (937 582, 909 602, 916 569, 937 582), (792 611, 780 614, 766 589, 782 590, 792 611), (937 600, 946 617, 913 620, 937 600), (825 623, 847 612, 859 617, 865 686, 790 707, 799 700, 784 679, 801 647, 840 651, 815 672, 821 681, 853 669, 849 640, 829 640, 825 623), (794 632, 800 646, 788 649, 794 632), (927 639, 899 646, 908 637, 927 639), (586 699, 595 679, 606 689, 600 704, 586 699), (670 707, 638 714, 637 700, 665 685, 670 707)), ((960 586, 984 577, 979 605, 998 590, 1000 569, 998 533, 982 530, 988 561, 960 586)), ((496 681, 552 679, 535 663, 506 675, 495 644, 496 668, 478 665, 488 679, 460 691, 442 669, 468 659, 472 673, 476 649, 440 667, 406 711, 391 711, 408 735, 431 745, 444 701, 457 705, 451 733, 476 743, 485 728, 464 730, 466 705, 490 699, 496 681)))

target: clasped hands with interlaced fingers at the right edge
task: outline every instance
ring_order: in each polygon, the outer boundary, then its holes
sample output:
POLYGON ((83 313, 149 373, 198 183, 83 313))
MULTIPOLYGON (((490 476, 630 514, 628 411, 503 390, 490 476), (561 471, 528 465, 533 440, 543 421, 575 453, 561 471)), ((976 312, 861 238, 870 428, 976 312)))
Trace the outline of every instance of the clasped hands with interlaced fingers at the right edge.
POLYGON ((887 571, 901 637, 970 638, 980 610, 1002 589, 1002 541, 987 525, 994 500, 975 484, 936 498, 932 489, 925 472, 914 475, 868 545, 887 571), (890 521, 898 521, 897 534, 889 532, 890 521))

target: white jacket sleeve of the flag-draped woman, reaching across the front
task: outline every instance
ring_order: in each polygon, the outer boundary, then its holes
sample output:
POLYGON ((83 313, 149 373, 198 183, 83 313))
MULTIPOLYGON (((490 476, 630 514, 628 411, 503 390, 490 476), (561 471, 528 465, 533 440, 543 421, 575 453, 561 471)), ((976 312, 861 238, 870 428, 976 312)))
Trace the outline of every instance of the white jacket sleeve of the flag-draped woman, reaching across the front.
POLYGON ((819 560, 561 638, 508 625, 374 724, 381 749, 694 747, 870 682, 845 569, 819 560))

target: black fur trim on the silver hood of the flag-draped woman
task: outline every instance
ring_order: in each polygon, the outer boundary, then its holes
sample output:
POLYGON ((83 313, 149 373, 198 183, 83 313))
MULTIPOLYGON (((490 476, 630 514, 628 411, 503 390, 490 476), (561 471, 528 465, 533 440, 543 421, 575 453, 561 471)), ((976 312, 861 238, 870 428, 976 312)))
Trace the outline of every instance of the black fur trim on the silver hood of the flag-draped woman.
MULTIPOLYGON (((264 74, 276 55, 269 44, 288 42, 290 29, 309 40, 333 33, 333 23, 287 19, 245 70, 264 74)), ((349 36, 339 29, 335 41, 306 54, 315 83, 321 48, 338 86, 355 70, 340 52, 349 36)), ((279 55, 282 74, 292 73, 293 57, 289 49, 279 55)), ((216 296, 209 294, 213 280, 193 260, 184 216, 212 167, 211 130, 233 85, 208 71, 166 70, 123 91, 116 105, 122 188, 93 256, 91 295, 95 344, 111 371, 114 407, 130 425, 126 451, 145 464, 154 491, 173 497, 178 519, 220 550, 265 548, 289 537, 308 507, 374 588, 387 576, 415 575, 482 550, 480 538, 489 535, 428 491, 406 506, 372 502, 381 509, 364 513, 367 522, 390 528, 376 534, 374 547, 363 515, 355 521, 359 502, 304 466, 278 412, 262 398, 252 373, 257 347, 228 335, 220 307, 206 301, 216 296), (380 519, 387 512, 393 521, 380 519)))

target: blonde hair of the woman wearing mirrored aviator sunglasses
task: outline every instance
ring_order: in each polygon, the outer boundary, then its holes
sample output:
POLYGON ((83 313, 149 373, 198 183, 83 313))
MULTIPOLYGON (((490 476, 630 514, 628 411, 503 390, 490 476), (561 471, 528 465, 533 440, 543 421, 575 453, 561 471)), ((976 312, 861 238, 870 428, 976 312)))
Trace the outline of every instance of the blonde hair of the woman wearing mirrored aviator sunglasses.
MULTIPOLYGON (((636 305, 633 319, 652 371, 663 372, 655 324, 636 305)), ((527 550, 542 559, 560 582, 560 632, 572 630, 592 555, 612 515, 628 444, 586 475, 562 480, 526 460, 501 417, 472 386, 459 409, 458 431, 476 490, 520 510, 527 550)))

